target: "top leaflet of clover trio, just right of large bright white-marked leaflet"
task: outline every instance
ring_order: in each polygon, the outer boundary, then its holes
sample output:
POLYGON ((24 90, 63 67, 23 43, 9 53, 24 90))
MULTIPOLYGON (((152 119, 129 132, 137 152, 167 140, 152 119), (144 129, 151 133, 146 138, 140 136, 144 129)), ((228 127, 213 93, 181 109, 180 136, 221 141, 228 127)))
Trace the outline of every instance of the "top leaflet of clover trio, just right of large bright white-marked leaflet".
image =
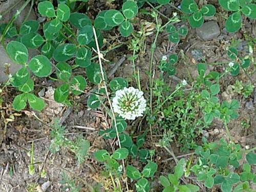
POLYGON ((58 62, 56 65, 57 77, 65 82, 68 82, 71 77, 72 69, 67 62, 58 62))

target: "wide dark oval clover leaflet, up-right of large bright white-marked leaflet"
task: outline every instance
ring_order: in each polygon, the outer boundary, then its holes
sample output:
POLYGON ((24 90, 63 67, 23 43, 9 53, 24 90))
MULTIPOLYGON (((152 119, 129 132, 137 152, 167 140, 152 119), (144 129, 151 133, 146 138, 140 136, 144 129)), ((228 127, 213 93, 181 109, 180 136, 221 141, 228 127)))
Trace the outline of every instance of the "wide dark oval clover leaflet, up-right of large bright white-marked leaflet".
POLYGON ((59 45, 53 52, 54 60, 58 62, 65 62, 71 59, 76 53, 76 46, 74 44, 59 45))

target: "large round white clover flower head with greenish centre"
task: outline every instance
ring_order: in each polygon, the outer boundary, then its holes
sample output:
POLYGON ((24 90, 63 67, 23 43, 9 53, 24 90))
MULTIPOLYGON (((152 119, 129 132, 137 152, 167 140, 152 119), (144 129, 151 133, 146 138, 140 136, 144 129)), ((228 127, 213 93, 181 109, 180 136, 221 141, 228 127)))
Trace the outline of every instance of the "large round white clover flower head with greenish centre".
POLYGON ((130 120, 143 116, 146 110, 146 100, 143 94, 142 91, 133 87, 116 91, 116 96, 113 98, 114 112, 130 120))

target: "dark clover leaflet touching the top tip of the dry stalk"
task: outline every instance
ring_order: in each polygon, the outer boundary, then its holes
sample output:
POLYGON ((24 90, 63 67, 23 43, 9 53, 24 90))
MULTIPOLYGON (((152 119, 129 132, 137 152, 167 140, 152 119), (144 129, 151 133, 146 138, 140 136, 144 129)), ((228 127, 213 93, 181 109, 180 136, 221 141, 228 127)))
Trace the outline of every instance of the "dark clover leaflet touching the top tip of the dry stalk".
POLYGON ((86 14, 78 12, 71 13, 69 21, 78 29, 82 29, 87 25, 92 25, 91 19, 86 14))

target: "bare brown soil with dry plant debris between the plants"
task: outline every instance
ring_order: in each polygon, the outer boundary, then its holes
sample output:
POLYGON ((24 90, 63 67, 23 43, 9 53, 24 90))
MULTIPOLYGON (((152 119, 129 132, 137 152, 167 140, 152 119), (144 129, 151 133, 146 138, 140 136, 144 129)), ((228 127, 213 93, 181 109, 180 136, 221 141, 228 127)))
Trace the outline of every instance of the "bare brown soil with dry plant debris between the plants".
MULTIPOLYGON (((0 1, 2 2, 2 1, 0 1)), ((120 1, 121 2, 121 1, 120 1)), ((209 3, 216 4, 217 1, 208 1, 209 3)), ((111 9, 119 8, 118 4, 105 4, 105 1, 90 1, 91 6, 95 6, 93 9, 89 10, 89 16, 93 18, 97 15, 98 9, 111 9)), ((178 5, 178 3, 177 3, 178 5)), ((217 5, 217 4, 216 4, 217 5)), ((145 6, 146 10, 151 10, 145 6)), ((164 13, 166 16, 170 16, 170 11, 174 11, 172 8, 161 8, 160 12, 164 13), (169 15, 168 15, 169 14, 169 15)), ((148 20, 151 22, 151 18, 140 14, 138 19, 138 24, 135 25, 135 29, 140 28, 142 22, 148 20)), ((162 18, 159 22, 166 22, 165 18, 162 18)), ((211 18, 212 19, 212 18, 211 18)), ((224 20, 219 17, 219 15, 214 18, 218 20, 218 24, 221 30, 224 28, 224 20)), ((183 23, 182 23, 183 24, 183 23)), ((163 55, 168 55, 170 53, 178 53, 182 59, 177 64, 177 74, 175 77, 167 77, 168 82, 175 86, 181 79, 187 79, 188 82, 195 80, 197 76, 196 65, 198 62, 203 60, 207 63, 214 63, 220 61, 227 61, 225 49, 229 46, 231 39, 242 39, 245 40, 244 34, 251 34, 255 26, 249 22, 248 19, 244 19, 244 26, 240 32, 235 34, 228 34, 225 30, 221 31, 220 36, 215 40, 202 41, 196 35, 196 30, 190 29, 188 37, 182 39, 179 45, 171 44, 168 41, 166 34, 161 34, 159 40, 157 41, 157 50, 155 52, 155 62, 158 62, 163 55), (197 56, 195 56, 197 53, 197 56)), ((153 25, 153 24, 152 24, 153 25)), ((255 25, 255 24, 254 24, 255 25)), ((118 44, 119 41, 128 42, 131 38, 119 39, 117 37, 118 31, 111 31, 104 34, 105 39, 109 42, 108 45, 118 44)), ((255 38, 256 36, 254 36, 255 38)), ((147 89, 148 75, 150 63, 150 49, 151 44, 155 38, 155 35, 148 35, 145 38, 145 51, 139 54, 136 60, 136 66, 140 69, 141 86, 143 89, 147 89)), ((247 47, 241 46, 242 52, 246 54, 247 47)), ((112 51, 106 55, 106 59, 110 60, 112 63, 116 63, 121 57, 131 56, 131 51, 127 49, 124 45, 115 51, 112 51)), ((110 63, 105 63, 105 70, 107 73, 111 70, 113 65, 110 63)), ((248 70, 250 73, 251 80, 254 85, 256 80, 256 75, 253 67, 248 70)), ((208 66, 208 70, 216 70, 223 72, 222 65, 208 66)), ((159 75, 158 69, 155 69, 156 77, 159 75)), ((77 74, 83 74, 79 70, 75 71, 77 74)), ((125 78, 131 78, 133 73, 133 64, 130 60, 126 59, 122 66, 118 68, 113 76, 121 76, 125 78)), ((221 92, 227 91, 228 86, 236 82, 239 79, 243 82, 248 82, 249 79, 242 72, 239 76, 225 76, 221 80, 221 92)), ((95 110, 88 110, 87 107, 87 97, 83 95, 81 97, 73 98, 76 102, 72 107, 67 107, 62 104, 58 104, 52 101, 52 87, 55 87, 52 81, 44 79, 44 82, 37 82, 36 84, 37 92, 40 92, 42 96, 47 98, 47 108, 41 113, 32 112, 27 109, 23 112, 17 113, 11 108, 11 101, 14 95, 16 95, 13 88, 8 88, 4 90, 1 96, 4 98, 2 106, 0 105, 0 191, 12 191, 12 192, 25 192, 27 187, 31 184, 42 185, 47 181, 50 181, 50 186, 46 191, 63 191, 62 185, 60 184, 61 173, 67 173, 72 179, 75 179, 77 183, 82 186, 81 191, 89 191, 89 185, 94 185, 97 182, 102 182, 104 187, 107 188, 111 181, 105 181, 101 175, 100 171, 103 169, 101 163, 95 161, 92 157, 92 153, 98 149, 106 149, 108 151, 114 151, 116 147, 116 140, 104 140, 98 136, 98 131, 101 129, 106 129, 110 124, 111 120, 105 113, 104 108, 95 110), (72 154, 67 149, 61 149, 58 153, 52 154, 49 151, 49 146, 51 143, 50 123, 53 122, 54 118, 59 118, 62 125, 66 126, 66 132, 69 134, 67 137, 71 140, 77 137, 77 135, 82 135, 84 139, 88 139, 91 143, 90 153, 86 161, 78 165, 74 154, 72 154), (92 127, 94 130, 77 128, 82 127, 92 127), (35 162, 35 173, 31 176, 29 174, 29 164, 30 155, 29 152, 32 147, 32 141, 34 142, 34 162, 35 162), (44 168, 46 170, 46 176, 43 178, 40 172, 44 168)), ((89 90, 90 87, 87 88, 89 90)), ((228 99, 230 95, 220 96, 221 100, 228 99)), ((229 123, 231 135, 234 137, 236 142, 240 143, 243 147, 252 147, 256 144, 256 118, 255 118, 255 108, 256 108, 256 90, 254 89, 253 94, 248 98, 244 98, 241 95, 233 94, 232 99, 238 99, 241 103, 239 109, 239 119, 232 120, 229 123), (248 102, 252 103, 252 107, 246 107, 248 102), (249 123, 248 129, 245 130, 241 126, 241 123, 246 121, 249 123)), ((127 132, 132 132, 138 134, 139 131, 136 130, 135 126, 138 122, 129 122, 129 129, 127 132)), ((142 123, 142 130, 146 129, 146 123, 142 123)), ((217 138, 226 137, 225 129, 223 124, 219 121, 215 121, 214 125, 210 129, 206 130, 209 135, 209 140, 215 140, 217 138)), ((158 164, 157 177, 162 173, 170 173, 173 170, 173 161, 164 161, 170 158, 170 155, 166 151, 157 145, 159 141, 158 137, 154 137, 153 140, 148 136, 144 146, 149 149, 155 149, 156 155, 154 161, 158 164)), ((174 147, 174 152, 176 156, 183 155, 178 147, 174 147)), ((140 164, 138 160, 132 162, 134 165, 140 164)), ((253 167, 255 170, 255 167, 253 167)), ((156 177, 156 178, 157 178, 156 177)), ((133 185, 133 184, 132 184, 133 185)), ((131 185, 131 186, 132 186, 131 185)), ((153 182, 154 190, 161 191, 161 187, 158 181, 153 182)), ((252 186, 255 187, 255 186, 252 186)), ((66 190, 69 191, 69 190, 66 190)), ((109 189, 111 191, 111 189, 109 189)), ((133 191, 133 190, 132 190, 133 191)), ((219 189, 214 188, 208 191, 219 191, 219 189)))

